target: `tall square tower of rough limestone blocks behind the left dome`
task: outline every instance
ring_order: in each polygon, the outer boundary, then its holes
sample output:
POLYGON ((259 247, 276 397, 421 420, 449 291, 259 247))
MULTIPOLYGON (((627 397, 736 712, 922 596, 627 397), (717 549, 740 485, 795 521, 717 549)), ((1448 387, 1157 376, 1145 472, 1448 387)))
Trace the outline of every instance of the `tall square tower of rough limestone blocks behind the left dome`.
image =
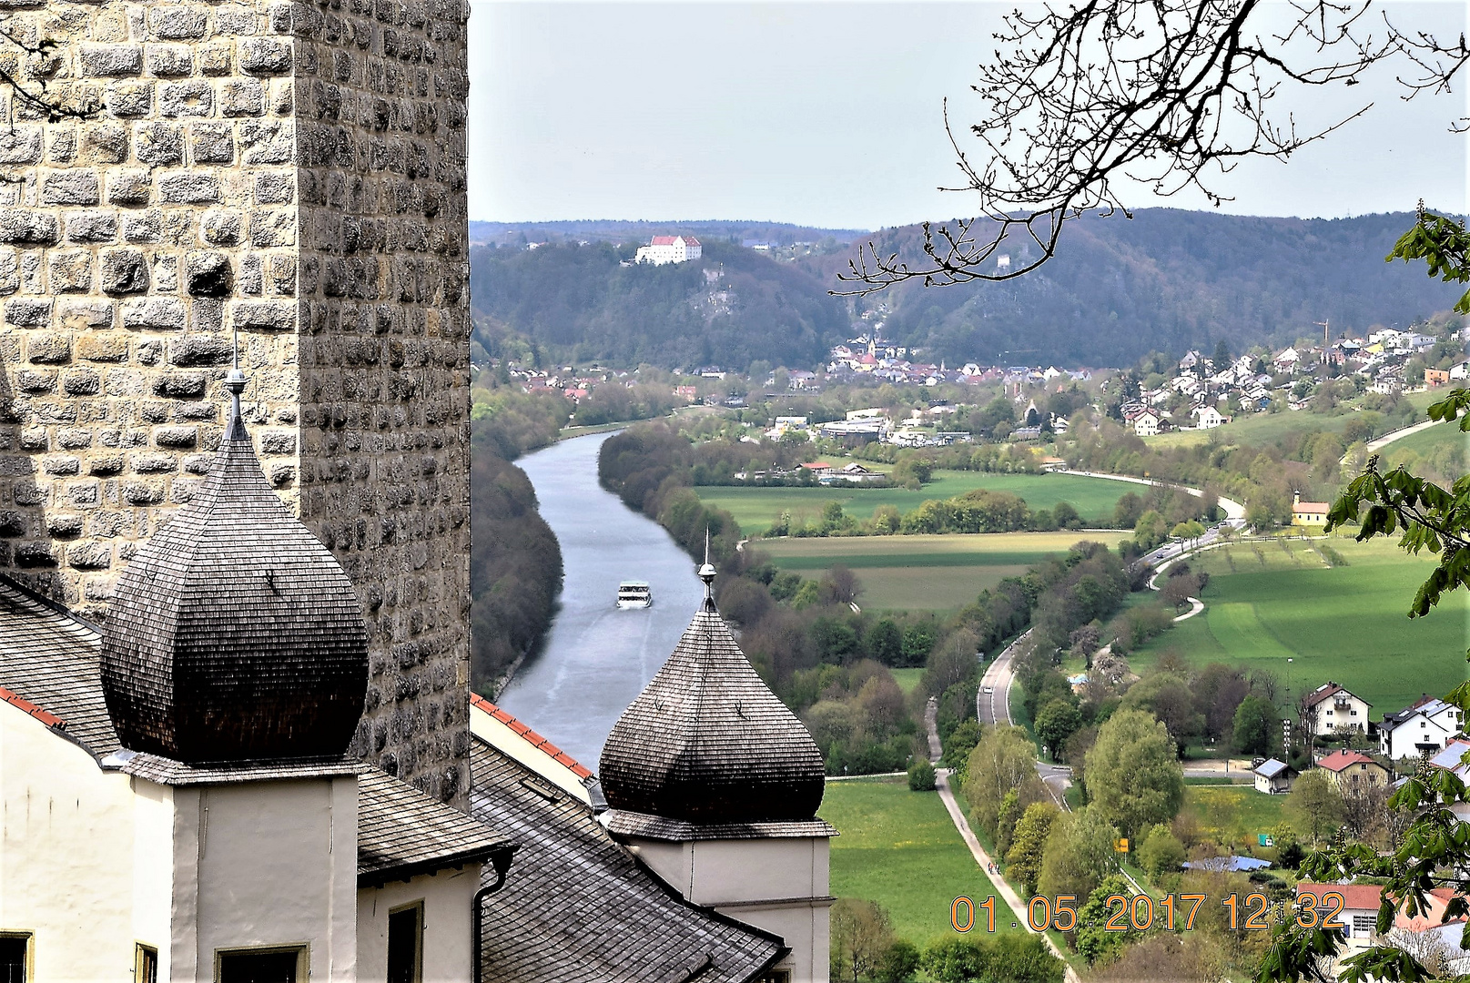
POLYGON ((209 469, 266 475, 372 632, 363 757, 465 805, 467 0, 0 0, 0 569, 91 617, 209 469))

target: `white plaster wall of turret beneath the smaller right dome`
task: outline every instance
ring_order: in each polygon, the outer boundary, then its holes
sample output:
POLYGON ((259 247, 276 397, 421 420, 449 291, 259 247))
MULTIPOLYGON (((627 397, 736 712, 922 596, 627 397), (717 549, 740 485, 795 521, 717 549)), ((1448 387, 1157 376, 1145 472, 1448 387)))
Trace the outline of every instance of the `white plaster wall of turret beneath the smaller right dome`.
POLYGON ((828 983, 825 836, 710 839, 685 843, 631 839, 638 855, 698 905, 779 935, 791 949, 779 968, 792 983, 828 983))

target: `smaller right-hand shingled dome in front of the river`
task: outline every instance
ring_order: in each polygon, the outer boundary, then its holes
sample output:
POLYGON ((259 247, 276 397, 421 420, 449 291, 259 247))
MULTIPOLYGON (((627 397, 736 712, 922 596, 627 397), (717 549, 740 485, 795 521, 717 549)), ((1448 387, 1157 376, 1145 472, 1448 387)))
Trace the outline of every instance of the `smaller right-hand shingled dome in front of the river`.
MULTIPOLYGON (((700 570, 706 583, 714 570, 700 570)), ((766 688, 706 597, 669 661, 617 719, 600 766, 614 810, 700 824, 803 821, 822 752, 766 688)))

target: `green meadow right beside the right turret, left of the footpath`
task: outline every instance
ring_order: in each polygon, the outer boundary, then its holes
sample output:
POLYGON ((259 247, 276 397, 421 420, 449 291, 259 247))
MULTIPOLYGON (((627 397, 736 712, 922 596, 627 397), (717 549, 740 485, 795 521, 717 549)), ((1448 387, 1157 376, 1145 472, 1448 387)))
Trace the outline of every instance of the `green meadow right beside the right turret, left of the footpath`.
MULTIPOLYGON (((828 782, 820 814, 841 833, 832 840, 832 893, 883 905, 894 932, 920 948, 954 935, 957 896, 992 893, 936 792, 910 792, 904 779, 828 782)), ((997 911, 998 932, 1025 930, 1011 921, 997 911)))

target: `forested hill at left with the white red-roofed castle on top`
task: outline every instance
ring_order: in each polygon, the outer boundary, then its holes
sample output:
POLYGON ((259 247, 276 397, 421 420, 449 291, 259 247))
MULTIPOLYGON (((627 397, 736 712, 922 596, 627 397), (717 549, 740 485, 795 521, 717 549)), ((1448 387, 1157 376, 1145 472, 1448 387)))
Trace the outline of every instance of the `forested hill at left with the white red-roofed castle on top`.
POLYGON ((744 370, 757 360, 811 367, 847 335, 847 303, 794 263, 714 241, 698 262, 622 266, 635 251, 476 247, 475 341, 495 356, 509 331, 557 360, 744 370))

